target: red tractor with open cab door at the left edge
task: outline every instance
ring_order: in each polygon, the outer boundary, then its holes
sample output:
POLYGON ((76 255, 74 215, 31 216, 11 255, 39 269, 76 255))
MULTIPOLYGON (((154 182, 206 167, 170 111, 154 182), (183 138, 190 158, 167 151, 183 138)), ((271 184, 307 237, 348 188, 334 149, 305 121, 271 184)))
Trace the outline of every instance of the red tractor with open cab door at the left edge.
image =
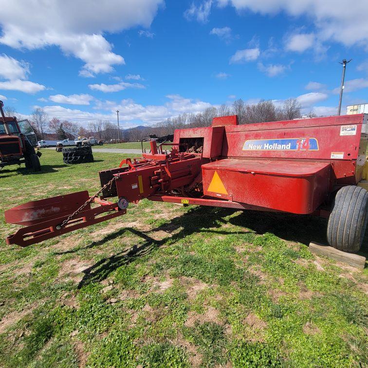
POLYGON ((27 136, 22 133, 17 118, 5 116, 3 106, 4 104, 0 101, 2 117, 0 120, 0 169, 4 166, 25 163, 26 168, 40 171, 41 165, 38 157, 41 156, 41 153, 36 153, 27 136))

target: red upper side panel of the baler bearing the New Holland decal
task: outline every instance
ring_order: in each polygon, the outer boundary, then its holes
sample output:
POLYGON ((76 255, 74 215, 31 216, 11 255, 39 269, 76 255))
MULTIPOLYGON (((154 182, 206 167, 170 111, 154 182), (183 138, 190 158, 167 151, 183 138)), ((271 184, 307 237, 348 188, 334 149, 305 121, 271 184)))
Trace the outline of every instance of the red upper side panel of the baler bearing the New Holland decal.
POLYGON ((227 126, 227 157, 356 160, 364 115, 227 126))

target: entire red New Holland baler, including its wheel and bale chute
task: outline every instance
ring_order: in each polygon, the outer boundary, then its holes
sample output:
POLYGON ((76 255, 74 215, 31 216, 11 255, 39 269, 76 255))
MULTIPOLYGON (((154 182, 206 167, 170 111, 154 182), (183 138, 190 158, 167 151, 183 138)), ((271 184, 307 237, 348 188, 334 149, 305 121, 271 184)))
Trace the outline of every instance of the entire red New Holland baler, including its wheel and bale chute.
POLYGON ((367 120, 357 114, 239 125, 233 115, 175 130, 173 143, 151 138, 149 153, 99 173, 94 196, 76 192, 5 211, 8 223, 25 226, 6 241, 38 243, 124 215, 129 203, 147 198, 327 217, 330 245, 357 252, 368 220, 367 120))

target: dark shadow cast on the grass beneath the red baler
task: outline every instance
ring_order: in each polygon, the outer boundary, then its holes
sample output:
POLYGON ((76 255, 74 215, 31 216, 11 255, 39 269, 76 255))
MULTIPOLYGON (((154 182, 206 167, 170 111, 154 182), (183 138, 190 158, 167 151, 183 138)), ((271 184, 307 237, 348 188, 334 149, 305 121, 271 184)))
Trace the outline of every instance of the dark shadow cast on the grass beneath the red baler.
MULTIPOLYGON (((249 231, 258 234, 270 232, 276 236, 304 244, 309 244, 310 241, 325 243, 325 232, 327 221, 312 216, 297 216, 291 214, 259 212, 259 211, 244 211, 239 212, 237 216, 231 217, 229 221, 223 218, 238 212, 238 210, 218 207, 194 207, 180 217, 176 217, 170 222, 154 228, 148 232, 138 231, 132 228, 121 228, 118 231, 111 233, 101 240, 94 241, 83 249, 93 248, 103 245, 105 242, 122 236, 127 231, 143 239, 143 243, 132 246, 128 251, 124 250, 110 257, 102 258, 88 269, 84 270, 84 276, 78 288, 81 288, 90 282, 100 282, 107 278, 111 272, 117 268, 127 265, 134 261, 137 257, 143 257, 149 254, 153 249, 161 247, 166 242, 178 241, 188 235, 199 232, 207 232, 215 234, 245 234, 249 231), (221 226, 225 223, 246 227, 245 231, 221 231, 221 226), (215 229, 214 229, 215 228, 215 229), (166 237, 161 240, 152 239, 148 233, 155 231, 167 231, 174 233, 171 237, 166 237)), ((57 254, 75 253, 74 249, 57 254)))

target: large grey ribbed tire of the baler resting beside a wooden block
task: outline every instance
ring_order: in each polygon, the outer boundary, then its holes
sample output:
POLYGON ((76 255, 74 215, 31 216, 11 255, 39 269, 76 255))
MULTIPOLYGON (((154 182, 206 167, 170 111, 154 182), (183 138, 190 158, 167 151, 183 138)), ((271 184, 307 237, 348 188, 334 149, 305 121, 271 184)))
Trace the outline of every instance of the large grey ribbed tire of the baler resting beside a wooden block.
POLYGON ((333 201, 327 226, 329 244, 341 251, 359 251, 368 221, 368 192, 348 185, 341 188, 333 201))

